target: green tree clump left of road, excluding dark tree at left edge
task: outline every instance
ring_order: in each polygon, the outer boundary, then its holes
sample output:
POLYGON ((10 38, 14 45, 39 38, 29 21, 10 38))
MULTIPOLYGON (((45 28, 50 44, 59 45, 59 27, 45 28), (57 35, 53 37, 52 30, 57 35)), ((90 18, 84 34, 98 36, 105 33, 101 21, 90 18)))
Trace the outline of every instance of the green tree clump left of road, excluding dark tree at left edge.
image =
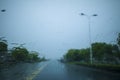
POLYGON ((29 52, 26 48, 23 47, 15 47, 12 52, 12 59, 14 61, 24 61, 24 62, 39 62, 43 61, 42 58, 39 57, 39 53, 36 51, 29 52))

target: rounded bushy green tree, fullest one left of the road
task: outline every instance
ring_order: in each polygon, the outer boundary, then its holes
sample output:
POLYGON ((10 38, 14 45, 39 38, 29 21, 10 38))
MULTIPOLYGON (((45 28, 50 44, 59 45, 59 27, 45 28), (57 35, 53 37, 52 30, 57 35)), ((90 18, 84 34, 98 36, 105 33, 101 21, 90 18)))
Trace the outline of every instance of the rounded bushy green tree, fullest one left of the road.
POLYGON ((12 50, 12 57, 17 61, 26 61, 28 54, 29 52, 26 48, 16 47, 12 50))

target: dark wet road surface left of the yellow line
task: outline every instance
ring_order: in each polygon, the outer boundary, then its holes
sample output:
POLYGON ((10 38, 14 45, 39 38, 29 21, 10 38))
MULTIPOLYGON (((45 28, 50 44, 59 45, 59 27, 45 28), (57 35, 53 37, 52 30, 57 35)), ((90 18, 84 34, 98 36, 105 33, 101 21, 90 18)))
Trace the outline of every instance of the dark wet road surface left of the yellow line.
POLYGON ((19 63, 9 68, 0 70, 0 80, 31 80, 30 77, 45 62, 40 63, 19 63))

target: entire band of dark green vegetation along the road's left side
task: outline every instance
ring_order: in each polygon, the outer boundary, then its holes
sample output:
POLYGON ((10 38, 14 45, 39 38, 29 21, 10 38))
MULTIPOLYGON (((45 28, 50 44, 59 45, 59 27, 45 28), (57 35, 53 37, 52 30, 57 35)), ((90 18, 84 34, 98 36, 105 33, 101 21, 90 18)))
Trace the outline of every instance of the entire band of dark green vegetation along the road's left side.
POLYGON ((28 51, 23 46, 13 47, 8 50, 8 44, 6 40, 0 40, 0 67, 10 66, 18 62, 41 62, 45 61, 45 57, 39 57, 39 53, 36 51, 28 51))

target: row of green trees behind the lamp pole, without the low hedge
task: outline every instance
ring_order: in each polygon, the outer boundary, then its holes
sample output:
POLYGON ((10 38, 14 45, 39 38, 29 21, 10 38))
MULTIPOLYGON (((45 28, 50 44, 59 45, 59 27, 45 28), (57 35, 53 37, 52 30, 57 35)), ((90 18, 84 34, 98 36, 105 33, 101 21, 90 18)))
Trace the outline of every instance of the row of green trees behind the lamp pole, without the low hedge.
MULTIPOLYGON (((93 62, 94 63, 119 63, 120 51, 117 45, 96 42, 92 44, 93 62)), ((89 48, 70 49, 64 55, 64 60, 68 62, 79 61, 89 62, 89 48)))

